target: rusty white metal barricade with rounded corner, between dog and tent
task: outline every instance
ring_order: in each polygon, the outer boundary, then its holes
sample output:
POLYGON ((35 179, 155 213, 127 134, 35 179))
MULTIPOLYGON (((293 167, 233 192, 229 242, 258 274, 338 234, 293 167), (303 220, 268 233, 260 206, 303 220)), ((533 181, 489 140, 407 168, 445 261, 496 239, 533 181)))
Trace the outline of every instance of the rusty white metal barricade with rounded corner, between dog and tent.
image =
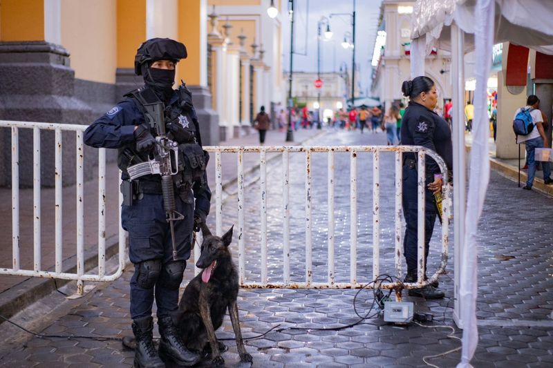
MULTIPOLYGON (((402 279, 402 258, 403 258, 403 243, 402 243, 402 153, 412 152, 417 155, 418 161, 418 281, 413 283, 405 283, 404 287, 420 287, 437 280, 438 275, 445 273, 448 255, 448 228, 449 228, 449 213, 450 213, 450 193, 449 185, 442 186, 442 249, 441 261, 438 270, 433 275, 424 280, 424 195, 425 195, 425 173, 424 159, 425 155, 432 157, 438 163, 442 174, 444 175, 443 182, 447 182, 448 171, 443 159, 435 152, 420 146, 209 146, 205 150, 210 153, 215 153, 215 204, 216 204, 216 233, 221 234, 222 217, 223 217, 223 188, 222 188, 222 153, 235 153, 237 157, 237 211, 238 211, 238 275, 242 287, 250 288, 359 288, 364 287, 364 284, 359 283, 357 279, 357 221, 350 221, 350 281, 336 282, 335 281, 335 218, 334 218, 334 200, 335 200, 335 153, 349 153, 350 155, 350 218, 357 218, 357 154, 362 152, 372 153, 373 155, 373 275, 370 280, 374 280, 380 275, 379 258, 380 258, 380 191, 379 191, 379 175, 380 175, 380 154, 382 152, 393 152, 395 154, 395 277, 397 280, 402 279), (259 281, 245 279, 245 219, 244 219, 244 154, 259 153, 259 187, 261 190, 260 209, 261 209, 261 278, 259 281), (267 262, 267 153, 282 153, 282 211, 283 211, 283 280, 281 282, 268 282, 268 262, 267 262), (290 281, 290 155, 294 153, 303 153, 305 156, 305 281, 292 282, 290 281), (312 153, 327 153, 328 155, 328 280, 326 282, 313 282, 312 280, 312 172, 311 161, 312 153)), ((274 183, 271 183, 274 185, 274 183)), ((196 246, 196 258, 198 255, 198 247, 196 246)), ((392 289, 400 284, 399 281, 385 282, 378 286, 383 289, 392 289)))

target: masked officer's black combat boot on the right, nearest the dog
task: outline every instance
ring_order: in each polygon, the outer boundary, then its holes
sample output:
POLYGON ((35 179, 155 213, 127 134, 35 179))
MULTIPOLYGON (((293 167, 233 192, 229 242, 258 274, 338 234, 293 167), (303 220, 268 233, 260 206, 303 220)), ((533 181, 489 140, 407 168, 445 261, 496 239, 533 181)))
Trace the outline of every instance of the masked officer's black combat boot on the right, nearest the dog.
MULTIPOLYGON (((173 316, 176 318, 176 316, 173 316)), ((177 327, 171 316, 162 316, 158 318, 160 327, 160 357, 165 361, 173 361, 177 365, 190 367, 200 361, 199 354, 189 351, 182 338, 178 334, 177 327)))

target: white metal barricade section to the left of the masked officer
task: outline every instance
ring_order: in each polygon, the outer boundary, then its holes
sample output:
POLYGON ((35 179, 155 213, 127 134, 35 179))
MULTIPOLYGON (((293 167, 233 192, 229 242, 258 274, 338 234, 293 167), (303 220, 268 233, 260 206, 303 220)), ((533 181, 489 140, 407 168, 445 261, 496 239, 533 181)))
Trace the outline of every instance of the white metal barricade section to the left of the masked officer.
MULTIPOLYGON (((77 294, 84 293, 84 281, 113 281, 122 275, 125 265, 126 232, 119 231, 119 262, 118 269, 111 275, 106 275, 106 149, 98 151, 98 267, 97 274, 84 273, 84 143, 83 132, 87 126, 75 124, 50 124, 37 122, 11 122, 0 120, 0 128, 11 128, 12 133, 12 268, 0 268, 0 275, 32 276, 41 278, 58 278, 77 280, 77 294), (19 258, 19 130, 32 129, 33 132, 33 269, 21 269, 19 258), (41 130, 55 131, 55 271, 45 271, 41 264, 41 130), (62 271, 62 132, 73 131, 76 138, 75 159, 77 187, 76 219, 77 238, 76 273, 62 271)), ((120 202, 122 196, 120 194, 120 202)), ((121 218, 121 216, 119 216, 121 218)))

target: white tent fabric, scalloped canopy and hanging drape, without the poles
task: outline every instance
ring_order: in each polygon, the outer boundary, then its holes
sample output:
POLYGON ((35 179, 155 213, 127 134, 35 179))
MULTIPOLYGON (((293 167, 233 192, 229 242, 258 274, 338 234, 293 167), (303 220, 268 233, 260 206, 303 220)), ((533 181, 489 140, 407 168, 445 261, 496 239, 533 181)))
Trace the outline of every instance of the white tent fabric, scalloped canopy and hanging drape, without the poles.
MULTIPOLYGON (((432 47, 451 50, 450 26, 455 21, 466 34, 465 52, 476 47, 475 129, 465 213, 465 247, 460 260, 459 297, 464 331, 458 368, 472 367, 470 360, 478 345, 476 234, 489 182, 489 124, 485 88, 491 64, 491 47, 494 43, 510 41, 553 55, 553 28, 548 26, 553 19, 552 3, 551 0, 418 0, 413 9, 412 45, 420 46, 424 42, 426 50, 432 47)), ((417 47, 417 50, 420 48, 417 47)), ((413 54, 411 47, 412 73, 420 70, 420 60, 414 60, 415 57, 421 59, 423 55, 424 52, 418 51, 413 54)))

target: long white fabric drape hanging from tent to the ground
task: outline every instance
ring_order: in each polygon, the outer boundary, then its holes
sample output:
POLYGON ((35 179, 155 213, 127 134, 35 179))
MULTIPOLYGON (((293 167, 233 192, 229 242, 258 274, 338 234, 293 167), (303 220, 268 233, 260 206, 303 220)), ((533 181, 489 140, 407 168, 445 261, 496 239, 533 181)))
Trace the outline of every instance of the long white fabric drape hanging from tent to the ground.
POLYGON ((489 182, 489 118, 487 115, 487 80, 491 69, 491 50, 494 46, 494 0, 478 0, 476 3, 476 90, 474 91, 474 140, 471 148, 471 171, 467 213, 465 215, 465 247, 462 249, 459 298, 463 308, 461 361, 457 368, 469 368, 478 345, 476 325, 476 298, 478 296, 476 234, 478 219, 489 182))

